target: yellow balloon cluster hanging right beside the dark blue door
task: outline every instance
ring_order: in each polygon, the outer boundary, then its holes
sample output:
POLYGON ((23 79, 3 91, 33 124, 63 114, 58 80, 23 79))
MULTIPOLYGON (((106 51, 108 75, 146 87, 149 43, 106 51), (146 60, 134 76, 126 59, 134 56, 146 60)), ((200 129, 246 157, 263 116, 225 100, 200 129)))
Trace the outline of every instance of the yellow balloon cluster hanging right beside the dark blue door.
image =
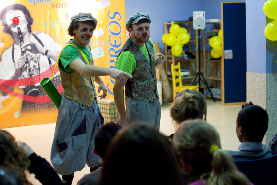
POLYGON ((209 40, 210 46, 213 48, 211 51, 211 56, 215 59, 221 57, 222 55, 222 31, 219 30, 217 36, 213 36, 209 40))

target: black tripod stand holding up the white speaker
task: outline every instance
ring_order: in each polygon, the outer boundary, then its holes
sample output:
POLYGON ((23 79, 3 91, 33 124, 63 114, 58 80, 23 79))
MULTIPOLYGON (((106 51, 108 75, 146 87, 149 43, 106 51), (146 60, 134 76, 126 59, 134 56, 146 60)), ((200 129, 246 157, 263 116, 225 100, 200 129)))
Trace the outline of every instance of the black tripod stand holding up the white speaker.
MULTIPOLYGON (((200 39, 201 39, 201 36, 200 36, 200 29, 198 29, 198 36, 197 36, 197 38, 198 38, 198 47, 197 47, 197 55, 198 55, 198 61, 196 61, 196 62, 198 62, 198 72, 195 74, 195 79, 194 79, 194 81, 193 81, 193 85, 196 85, 196 84, 198 84, 199 83, 199 88, 201 87, 200 86, 200 83, 201 83, 201 81, 206 85, 206 87, 208 88, 208 90, 209 90, 209 92, 210 92, 210 94, 211 94, 211 97, 212 97, 212 99, 214 100, 214 102, 215 102, 215 98, 214 98, 214 96, 213 96, 213 94, 212 94, 212 92, 211 92, 211 89, 210 89, 210 86, 209 86, 209 84, 207 83, 207 81, 206 81, 206 79, 205 79, 205 77, 204 77, 204 75, 203 75, 203 72, 201 72, 201 68, 200 68, 200 64, 201 64, 201 60, 200 60, 200 39), (198 77, 198 81, 196 81, 197 80, 197 77, 198 77)), ((205 60, 205 59, 204 59, 205 60)))

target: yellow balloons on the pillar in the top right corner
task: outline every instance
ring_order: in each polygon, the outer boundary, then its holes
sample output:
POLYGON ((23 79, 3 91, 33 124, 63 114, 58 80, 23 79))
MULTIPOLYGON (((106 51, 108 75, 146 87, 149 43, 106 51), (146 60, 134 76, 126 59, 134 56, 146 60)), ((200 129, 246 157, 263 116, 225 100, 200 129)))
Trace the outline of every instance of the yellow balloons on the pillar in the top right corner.
POLYGON ((263 5, 266 16, 273 19, 264 29, 264 35, 268 40, 277 40, 277 0, 267 0, 263 5))

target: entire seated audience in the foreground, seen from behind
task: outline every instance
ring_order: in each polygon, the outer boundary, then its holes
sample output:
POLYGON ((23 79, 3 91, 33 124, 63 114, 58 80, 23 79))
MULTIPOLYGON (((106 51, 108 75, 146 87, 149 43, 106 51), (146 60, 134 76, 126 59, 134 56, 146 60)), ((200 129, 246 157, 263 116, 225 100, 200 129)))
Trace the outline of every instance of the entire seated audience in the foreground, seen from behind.
MULTIPOLYGON (((177 94, 170 115, 177 129, 171 135, 172 142, 147 125, 133 124, 123 129, 114 122, 101 125, 95 135, 94 152, 102 158, 102 165, 77 185, 252 185, 234 160, 272 156, 271 149, 262 144, 268 115, 251 102, 238 113, 236 133, 242 143, 238 151, 221 149, 218 132, 206 122, 207 105, 200 92, 187 89, 177 94)), ((271 147, 275 147, 275 140, 271 147)), ((27 170, 43 185, 63 184, 49 162, 26 143, 16 142, 10 133, 0 130, 0 184, 30 185, 27 170)))

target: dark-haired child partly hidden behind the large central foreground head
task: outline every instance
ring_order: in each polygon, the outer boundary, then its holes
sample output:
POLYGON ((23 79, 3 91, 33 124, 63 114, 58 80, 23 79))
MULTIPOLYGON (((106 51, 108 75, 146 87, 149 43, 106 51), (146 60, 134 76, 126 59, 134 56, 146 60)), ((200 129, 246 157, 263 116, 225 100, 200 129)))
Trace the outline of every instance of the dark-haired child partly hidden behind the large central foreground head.
POLYGON ((77 185, 98 185, 100 182, 100 175, 103 170, 103 158, 112 138, 114 138, 121 126, 117 122, 110 122, 102 125, 95 134, 94 153, 99 155, 102 159, 102 166, 95 171, 85 175, 80 179, 77 185))

